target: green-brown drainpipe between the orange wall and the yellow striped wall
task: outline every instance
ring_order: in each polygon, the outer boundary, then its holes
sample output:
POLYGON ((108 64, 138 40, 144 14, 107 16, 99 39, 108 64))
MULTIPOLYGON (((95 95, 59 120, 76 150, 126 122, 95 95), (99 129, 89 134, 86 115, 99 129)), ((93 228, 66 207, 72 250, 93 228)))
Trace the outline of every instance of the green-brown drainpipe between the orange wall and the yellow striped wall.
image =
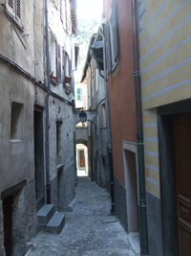
POLYGON ((134 78, 136 90, 137 124, 138 124, 138 180, 139 180, 139 219, 140 219, 140 252, 142 256, 148 255, 148 234, 146 218, 144 154, 143 154, 143 128, 139 73, 139 45, 138 45, 138 7, 137 1, 131 0, 132 29, 134 47, 134 78))

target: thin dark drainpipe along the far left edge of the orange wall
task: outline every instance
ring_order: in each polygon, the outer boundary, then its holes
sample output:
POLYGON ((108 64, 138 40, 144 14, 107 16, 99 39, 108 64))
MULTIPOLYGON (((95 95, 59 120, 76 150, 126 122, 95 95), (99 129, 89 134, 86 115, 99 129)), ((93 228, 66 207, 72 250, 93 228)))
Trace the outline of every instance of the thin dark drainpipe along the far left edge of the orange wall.
POLYGON ((107 115, 107 135, 108 135, 108 155, 110 165, 110 187, 111 187, 111 213, 115 213, 115 191, 114 191, 114 168, 113 168, 113 151, 112 151, 112 134, 110 125, 109 98, 108 98, 108 80, 106 70, 106 55, 105 55, 105 35, 101 31, 103 37, 103 64, 104 64, 104 83, 105 83, 105 104, 107 115))

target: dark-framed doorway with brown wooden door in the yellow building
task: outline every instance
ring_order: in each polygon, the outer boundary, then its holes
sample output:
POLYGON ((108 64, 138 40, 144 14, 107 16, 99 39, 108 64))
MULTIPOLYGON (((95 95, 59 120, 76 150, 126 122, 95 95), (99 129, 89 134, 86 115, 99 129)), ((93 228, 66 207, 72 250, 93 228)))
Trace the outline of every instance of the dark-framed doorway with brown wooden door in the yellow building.
POLYGON ((158 108, 163 255, 191 255, 191 101, 158 108))

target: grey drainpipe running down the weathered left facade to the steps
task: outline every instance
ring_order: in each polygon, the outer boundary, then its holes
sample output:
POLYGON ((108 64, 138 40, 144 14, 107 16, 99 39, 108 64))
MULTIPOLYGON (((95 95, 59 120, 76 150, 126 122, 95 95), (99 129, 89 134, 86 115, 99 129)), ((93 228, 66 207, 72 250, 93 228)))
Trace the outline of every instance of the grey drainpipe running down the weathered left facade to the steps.
POLYGON ((49 170, 49 96, 51 94, 50 81, 50 54, 49 54, 49 23, 48 23, 48 4, 45 0, 45 23, 46 23, 46 57, 47 57, 47 86, 48 91, 46 95, 46 188, 47 188, 47 203, 51 203, 51 183, 49 170))

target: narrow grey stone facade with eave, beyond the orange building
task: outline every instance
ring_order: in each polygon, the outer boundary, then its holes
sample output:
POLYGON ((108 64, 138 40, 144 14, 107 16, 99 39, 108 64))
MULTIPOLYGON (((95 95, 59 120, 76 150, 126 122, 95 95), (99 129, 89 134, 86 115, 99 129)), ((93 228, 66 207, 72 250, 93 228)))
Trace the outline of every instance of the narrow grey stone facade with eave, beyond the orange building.
POLYGON ((106 116, 106 93, 103 70, 99 73, 92 47, 96 35, 90 39, 89 50, 83 69, 82 80, 87 86, 87 110, 96 111, 96 124, 88 122, 89 175, 99 186, 110 190, 110 168, 108 158, 108 127, 106 116))

